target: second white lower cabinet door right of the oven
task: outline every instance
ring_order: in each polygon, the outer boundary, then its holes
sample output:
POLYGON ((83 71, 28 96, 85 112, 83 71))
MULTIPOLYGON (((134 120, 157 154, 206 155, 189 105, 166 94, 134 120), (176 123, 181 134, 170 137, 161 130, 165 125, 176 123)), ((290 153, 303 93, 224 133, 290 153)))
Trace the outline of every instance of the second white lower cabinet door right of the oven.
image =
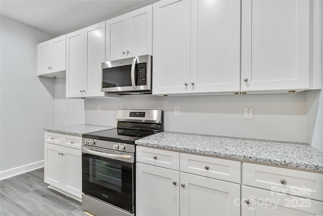
POLYGON ((181 215, 240 215, 239 184, 181 172, 180 194, 181 215))

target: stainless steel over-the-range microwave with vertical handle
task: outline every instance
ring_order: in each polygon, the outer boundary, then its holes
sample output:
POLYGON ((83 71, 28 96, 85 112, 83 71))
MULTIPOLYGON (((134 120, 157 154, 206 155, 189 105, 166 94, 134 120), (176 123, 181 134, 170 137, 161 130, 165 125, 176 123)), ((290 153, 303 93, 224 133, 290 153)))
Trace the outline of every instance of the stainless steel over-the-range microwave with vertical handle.
POLYGON ((102 63, 102 92, 151 94, 152 56, 102 63))

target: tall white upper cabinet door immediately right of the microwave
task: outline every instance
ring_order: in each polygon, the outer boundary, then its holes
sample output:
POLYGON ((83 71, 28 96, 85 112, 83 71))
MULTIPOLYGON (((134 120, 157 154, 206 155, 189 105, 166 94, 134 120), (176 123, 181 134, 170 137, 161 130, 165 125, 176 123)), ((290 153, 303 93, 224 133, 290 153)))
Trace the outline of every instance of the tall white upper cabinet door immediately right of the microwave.
POLYGON ((190 1, 153 4, 152 94, 190 92, 190 20, 190 1))

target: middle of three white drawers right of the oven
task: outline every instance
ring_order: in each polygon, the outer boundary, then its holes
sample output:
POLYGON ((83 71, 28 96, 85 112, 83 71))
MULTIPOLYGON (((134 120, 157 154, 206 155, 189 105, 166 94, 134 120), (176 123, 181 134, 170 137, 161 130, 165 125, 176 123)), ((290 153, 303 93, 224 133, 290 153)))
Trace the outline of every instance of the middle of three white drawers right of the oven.
POLYGON ((229 182, 241 182, 239 161, 181 153, 181 171, 229 182))

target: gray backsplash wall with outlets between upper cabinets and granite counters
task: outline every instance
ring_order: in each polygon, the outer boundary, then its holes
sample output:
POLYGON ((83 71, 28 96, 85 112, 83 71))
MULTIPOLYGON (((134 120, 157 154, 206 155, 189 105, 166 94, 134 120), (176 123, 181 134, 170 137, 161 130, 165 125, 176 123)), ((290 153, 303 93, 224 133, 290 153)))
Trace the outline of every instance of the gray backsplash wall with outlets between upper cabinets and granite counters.
POLYGON ((165 131, 306 142, 305 93, 85 99, 85 123, 116 125, 120 108, 163 109, 165 131), (97 106, 102 112, 97 113, 97 106), (173 107, 180 106, 180 116, 173 107), (243 108, 253 107, 253 119, 243 108))

